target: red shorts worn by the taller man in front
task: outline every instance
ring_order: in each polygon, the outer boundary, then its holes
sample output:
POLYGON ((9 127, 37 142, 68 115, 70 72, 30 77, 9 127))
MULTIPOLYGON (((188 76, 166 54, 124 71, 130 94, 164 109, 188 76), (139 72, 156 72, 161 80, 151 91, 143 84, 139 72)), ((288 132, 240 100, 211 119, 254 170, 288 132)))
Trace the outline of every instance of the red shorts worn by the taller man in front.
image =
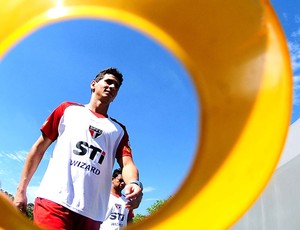
POLYGON ((37 197, 35 199, 34 223, 44 229, 95 229, 99 230, 100 221, 92 220, 73 212, 50 200, 37 197))

